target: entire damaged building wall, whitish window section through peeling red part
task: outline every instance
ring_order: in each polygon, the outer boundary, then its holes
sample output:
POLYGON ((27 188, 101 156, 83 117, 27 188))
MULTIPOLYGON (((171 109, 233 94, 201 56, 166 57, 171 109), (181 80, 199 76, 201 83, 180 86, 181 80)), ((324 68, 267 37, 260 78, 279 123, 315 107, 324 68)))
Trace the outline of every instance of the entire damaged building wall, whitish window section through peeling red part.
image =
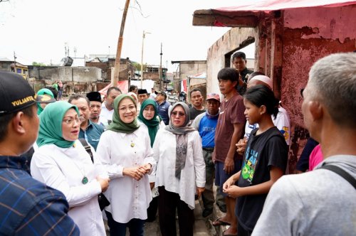
POLYGON ((208 50, 207 92, 219 92, 216 75, 226 67, 226 55, 256 39, 255 71, 273 78, 273 92, 290 116, 291 145, 288 173, 308 137, 301 113, 300 89, 311 65, 330 53, 356 49, 356 6, 281 11, 280 17, 260 19, 256 28, 231 28, 208 50))

